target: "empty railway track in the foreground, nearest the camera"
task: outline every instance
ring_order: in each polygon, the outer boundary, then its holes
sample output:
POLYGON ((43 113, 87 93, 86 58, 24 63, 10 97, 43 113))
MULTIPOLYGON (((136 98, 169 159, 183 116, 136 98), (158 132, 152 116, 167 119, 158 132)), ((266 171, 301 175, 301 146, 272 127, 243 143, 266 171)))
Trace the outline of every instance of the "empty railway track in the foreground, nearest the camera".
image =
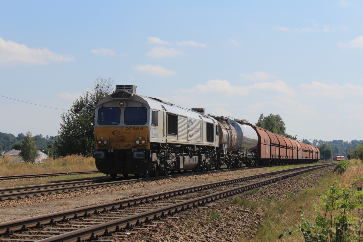
POLYGON ((260 186, 335 164, 266 172, 0 223, 0 241, 82 242, 123 237, 159 220, 260 186), (131 231, 132 232, 132 231, 131 231))

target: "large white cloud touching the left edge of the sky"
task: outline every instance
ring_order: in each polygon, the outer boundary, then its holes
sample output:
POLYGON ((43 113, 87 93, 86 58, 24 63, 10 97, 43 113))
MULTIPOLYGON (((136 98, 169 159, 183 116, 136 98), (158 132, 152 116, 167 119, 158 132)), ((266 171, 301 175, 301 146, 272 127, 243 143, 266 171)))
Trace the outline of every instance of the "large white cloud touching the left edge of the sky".
POLYGON ((24 44, 5 41, 0 37, 0 63, 30 63, 44 65, 49 62, 74 61, 73 56, 60 55, 47 48, 29 48, 24 44))

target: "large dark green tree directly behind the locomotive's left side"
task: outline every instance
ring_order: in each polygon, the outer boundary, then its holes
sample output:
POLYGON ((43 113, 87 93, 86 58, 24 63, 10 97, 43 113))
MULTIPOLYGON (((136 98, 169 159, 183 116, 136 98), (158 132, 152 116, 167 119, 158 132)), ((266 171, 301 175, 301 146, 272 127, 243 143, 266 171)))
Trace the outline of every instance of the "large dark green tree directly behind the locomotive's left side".
POLYGON ((59 156, 81 154, 92 156, 94 151, 94 115, 97 103, 111 93, 114 81, 111 78, 95 79, 94 88, 83 93, 66 113, 55 144, 59 156))

